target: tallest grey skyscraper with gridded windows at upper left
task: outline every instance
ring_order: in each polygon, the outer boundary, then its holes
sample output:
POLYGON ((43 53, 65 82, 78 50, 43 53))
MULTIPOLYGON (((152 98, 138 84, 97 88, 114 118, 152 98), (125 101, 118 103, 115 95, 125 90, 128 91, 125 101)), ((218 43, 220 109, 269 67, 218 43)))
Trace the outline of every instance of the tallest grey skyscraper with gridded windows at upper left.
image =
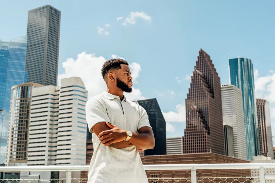
POLYGON ((61 12, 50 5, 28 14, 26 71, 28 82, 57 85, 61 12))

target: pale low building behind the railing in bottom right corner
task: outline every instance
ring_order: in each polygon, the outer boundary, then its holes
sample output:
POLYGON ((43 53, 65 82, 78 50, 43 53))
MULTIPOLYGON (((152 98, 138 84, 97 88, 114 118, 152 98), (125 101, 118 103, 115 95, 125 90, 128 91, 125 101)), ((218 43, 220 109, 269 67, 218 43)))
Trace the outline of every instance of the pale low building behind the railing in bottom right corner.
MULTIPOLYGON (((251 161, 250 163, 275 163, 275 160, 272 160, 270 157, 266 157, 266 156, 255 156, 253 157, 253 161, 251 161)), ((251 171, 251 176, 255 177, 252 178, 251 181, 253 182, 257 182, 259 177, 259 169, 250 169, 251 171)), ((265 174, 275 174, 275 168, 265 168, 265 174)), ((266 180, 265 182, 271 182, 271 183, 275 183, 274 179, 270 179, 270 180, 266 180)))

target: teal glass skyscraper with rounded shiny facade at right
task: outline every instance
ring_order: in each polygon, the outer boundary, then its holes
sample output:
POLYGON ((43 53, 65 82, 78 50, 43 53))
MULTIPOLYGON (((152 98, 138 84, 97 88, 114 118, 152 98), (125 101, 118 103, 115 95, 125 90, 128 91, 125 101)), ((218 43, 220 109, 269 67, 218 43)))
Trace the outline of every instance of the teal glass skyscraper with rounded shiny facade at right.
POLYGON ((250 59, 229 59, 230 82, 242 91, 244 129, 248 160, 259 155, 259 132, 256 112, 253 64, 250 59))

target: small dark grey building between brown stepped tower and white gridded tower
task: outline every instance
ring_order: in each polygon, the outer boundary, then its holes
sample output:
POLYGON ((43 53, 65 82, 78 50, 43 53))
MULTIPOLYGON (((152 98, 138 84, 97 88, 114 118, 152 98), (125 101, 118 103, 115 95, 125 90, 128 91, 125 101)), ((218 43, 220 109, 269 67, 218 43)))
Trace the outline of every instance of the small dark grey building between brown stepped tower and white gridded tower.
POLYGON ((223 125, 225 155, 234 157, 233 127, 223 125))

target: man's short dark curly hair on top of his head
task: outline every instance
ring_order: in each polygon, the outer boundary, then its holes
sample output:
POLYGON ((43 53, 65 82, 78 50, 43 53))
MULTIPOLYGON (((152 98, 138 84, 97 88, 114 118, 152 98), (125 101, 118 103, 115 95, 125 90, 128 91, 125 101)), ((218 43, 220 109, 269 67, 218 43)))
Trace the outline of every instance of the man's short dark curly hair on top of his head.
POLYGON ((125 64, 125 65, 129 65, 128 62, 126 60, 123 59, 110 59, 108 61, 106 61, 101 69, 101 75, 103 77, 103 79, 105 80, 105 75, 110 71, 110 70, 117 70, 117 69, 121 69, 120 64, 125 64))

